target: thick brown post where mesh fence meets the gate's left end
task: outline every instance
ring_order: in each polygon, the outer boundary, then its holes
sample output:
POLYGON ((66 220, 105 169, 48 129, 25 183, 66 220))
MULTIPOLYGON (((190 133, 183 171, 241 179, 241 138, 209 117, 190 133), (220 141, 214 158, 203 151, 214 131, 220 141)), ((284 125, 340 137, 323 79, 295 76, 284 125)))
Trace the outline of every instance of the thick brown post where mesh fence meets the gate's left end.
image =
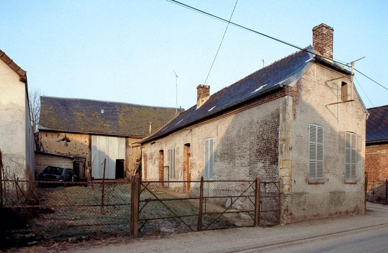
POLYGON ((133 176, 131 179, 131 235, 137 237, 139 226, 139 176, 133 176))

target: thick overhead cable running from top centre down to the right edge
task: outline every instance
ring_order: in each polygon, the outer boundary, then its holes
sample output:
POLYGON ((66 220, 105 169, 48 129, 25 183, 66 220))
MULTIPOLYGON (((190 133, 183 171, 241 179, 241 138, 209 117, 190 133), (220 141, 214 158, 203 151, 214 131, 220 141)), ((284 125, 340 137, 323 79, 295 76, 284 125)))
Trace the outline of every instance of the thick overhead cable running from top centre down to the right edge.
MULTIPOLYGON (((312 53, 312 54, 317 55, 317 56, 319 56, 319 57, 321 57, 321 58, 323 58, 323 59, 326 59, 326 60, 329 60, 329 61, 333 61, 333 62, 339 63, 339 64, 341 64, 341 65, 350 67, 350 66, 349 66, 346 62, 344 62, 344 61, 340 61, 340 60, 337 60, 337 59, 336 59, 336 60, 333 60, 333 59, 324 57, 324 56, 322 56, 322 55, 316 54, 316 53, 314 53, 314 52, 311 52, 311 51, 309 51, 309 50, 307 50, 307 49, 304 49, 304 48, 299 47, 299 46, 297 46, 297 45, 294 45, 294 44, 292 44, 292 43, 288 43, 287 41, 284 41, 284 40, 275 38, 275 37, 273 37, 273 36, 267 35, 267 34, 265 34, 265 33, 262 33, 262 32, 256 31, 256 30, 253 30, 253 29, 248 28, 248 27, 243 26, 243 25, 239 25, 239 24, 233 23, 233 22, 231 22, 230 20, 223 19, 223 18, 221 18, 221 17, 218 17, 218 16, 216 16, 216 15, 213 15, 213 14, 210 14, 210 13, 208 13, 208 12, 202 11, 202 10, 197 9, 197 8, 195 8, 195 7, 192 7, 192 6, 183 4, 183 3, 178 2, 178 1, 176 1, 176 0, 166 0, 166 1, 168 1, 168 2, 170 2, 170 3, 173 3, 173 4, 175 4, 175 5, 178 5, 178 6, 184 7, 184 8, 186 8, 186 9, 191 10, 191 11, 195 11, 195 12, 198 12, 198 13, 200 13, 200 14, 209 16, 209 17, 214 18, 214 19, 217 19, 217 20, 219 20, 219 21, 227 22, 228 25, 229 25, 229 24, 234 25, 234 26, 239 27, 239 28, 242 28, 242 29, 244 29, 244 30, 247 30, 247 31, 250 31, 250 32, 253 32, 253 33, 262 35, 262 36, 264 36, 264 37, 273 39, 273 40, 275 40, 275 41, 278 41, 278 42, 283 43, 283 44, 285 44, 285 45, 288 45, 288 46, 290 46, 290 47, 293 47, 293 48, 296 48, 296 49, 299 49, 299 50, 302 50, 302 51, 305 51, 305 52, 308 52, 308 53, 312 53)), ((362 75, 365 76, 366 78, 370 79, 371 81, 375 82, 377 85, 379 85, 380 87, 384 88, 385 90, 388 90, 388 88, 386 88, 385 86, 381 85, 381 84, 378 83, 377 81, 373 80, 372 78, 370 78, 370 77, 367 76, 366 74, 360 72, 360 71, 357 70, 357 69, 354 69, 354 70, 357 71, 357 72, 359 72, 360 74, 362 74, 362 75)))

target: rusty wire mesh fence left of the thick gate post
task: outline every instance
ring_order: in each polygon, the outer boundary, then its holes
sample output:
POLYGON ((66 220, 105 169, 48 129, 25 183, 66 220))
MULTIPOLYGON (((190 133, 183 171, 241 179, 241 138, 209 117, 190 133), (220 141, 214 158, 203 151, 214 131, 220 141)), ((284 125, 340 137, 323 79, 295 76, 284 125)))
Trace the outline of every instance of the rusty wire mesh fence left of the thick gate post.
POLYGON ((39 238, 128 234, 130 182, 3 180, 2 232, 39 238), (6 215, 6 216, 4 216, 6 215))

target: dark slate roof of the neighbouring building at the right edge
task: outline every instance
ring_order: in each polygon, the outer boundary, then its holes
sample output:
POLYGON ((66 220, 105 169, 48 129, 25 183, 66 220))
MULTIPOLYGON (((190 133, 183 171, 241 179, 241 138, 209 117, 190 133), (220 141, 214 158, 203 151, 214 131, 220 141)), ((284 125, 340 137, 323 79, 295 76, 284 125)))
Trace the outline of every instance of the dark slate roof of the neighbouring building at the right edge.
POLYGON ((368 108, 366 120, 366 142, 388 141, 388 105, 368 108))

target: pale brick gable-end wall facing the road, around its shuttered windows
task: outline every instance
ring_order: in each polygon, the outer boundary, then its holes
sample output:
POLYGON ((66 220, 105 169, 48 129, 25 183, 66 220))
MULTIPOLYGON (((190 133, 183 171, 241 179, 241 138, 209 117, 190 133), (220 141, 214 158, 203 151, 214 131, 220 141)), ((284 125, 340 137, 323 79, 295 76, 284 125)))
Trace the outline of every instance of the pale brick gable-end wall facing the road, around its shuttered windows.
POLYGON ((350 80, 344 77, 325 81, 341 75, 314 63, 296 86, 298 99, 293 101, 292 144, 288 147, 292 165, 286 171, 289 174, 282 175, 288 176, 286 179, 291 183, 283 189, 283 224, 364 212, 366 113, 355 92, 353 103, 327 105, 341 101, 341 83, 350 83, 350 80), (314 184, 308 178, 308 129, 311 123, 324 129, 324 179, 320 184, 314 184), (357 134, 355 182, 345 180, 344 137, 348 131, 357 134))

